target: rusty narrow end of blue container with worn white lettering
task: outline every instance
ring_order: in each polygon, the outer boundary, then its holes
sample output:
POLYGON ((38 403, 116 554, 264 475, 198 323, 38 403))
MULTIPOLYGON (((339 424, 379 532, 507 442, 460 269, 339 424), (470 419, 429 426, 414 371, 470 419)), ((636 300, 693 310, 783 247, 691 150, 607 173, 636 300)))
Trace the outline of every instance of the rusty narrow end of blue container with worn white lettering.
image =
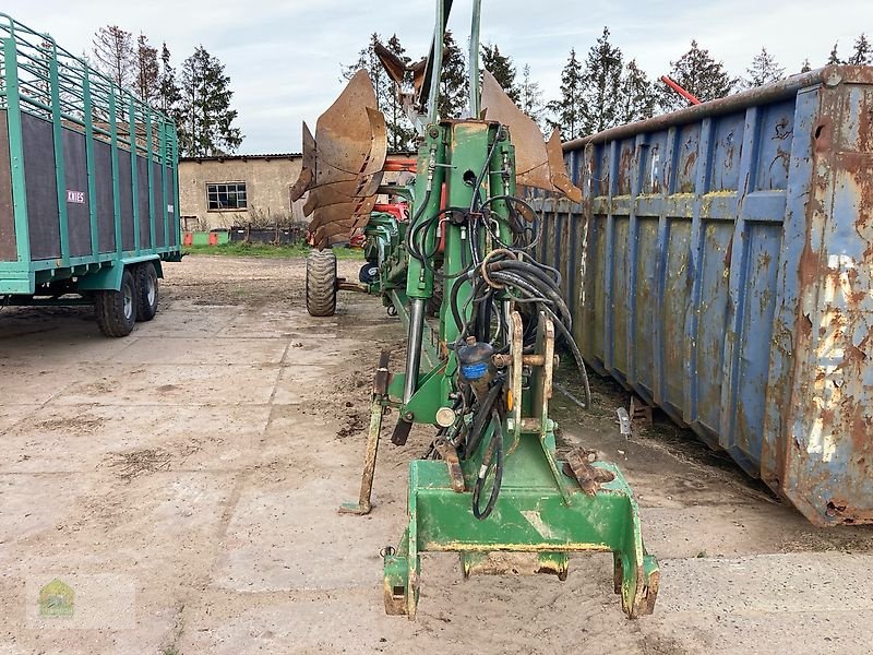
POLYGON ((873 522, 873 72, 869 76, 868 84, 824 90, 812 126, 782 487, 818 523, 873 522))

